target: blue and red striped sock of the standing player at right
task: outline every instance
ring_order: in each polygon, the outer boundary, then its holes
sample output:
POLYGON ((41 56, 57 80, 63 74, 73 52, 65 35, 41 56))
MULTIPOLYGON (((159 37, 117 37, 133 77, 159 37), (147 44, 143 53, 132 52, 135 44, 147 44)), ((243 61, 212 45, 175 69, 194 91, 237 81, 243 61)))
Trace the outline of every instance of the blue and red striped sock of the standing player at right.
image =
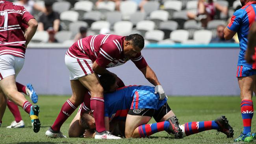
POLYGON ((250 132, 253 116, 253 103, 252 100, 242 100, 241 114, 243 118, 243 134, 246 135, 250 132))

